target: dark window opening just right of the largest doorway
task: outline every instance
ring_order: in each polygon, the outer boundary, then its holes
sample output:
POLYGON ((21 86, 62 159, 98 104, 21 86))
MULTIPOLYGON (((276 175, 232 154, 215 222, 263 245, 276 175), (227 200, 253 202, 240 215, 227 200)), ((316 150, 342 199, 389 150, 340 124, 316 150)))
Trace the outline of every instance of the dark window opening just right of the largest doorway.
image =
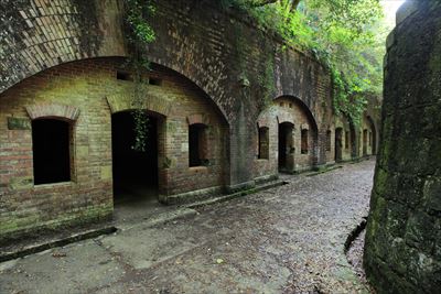
POLYGON ((189 165, 208 165, 208 138, 207 126, 194 123, 189 126, 189 165))

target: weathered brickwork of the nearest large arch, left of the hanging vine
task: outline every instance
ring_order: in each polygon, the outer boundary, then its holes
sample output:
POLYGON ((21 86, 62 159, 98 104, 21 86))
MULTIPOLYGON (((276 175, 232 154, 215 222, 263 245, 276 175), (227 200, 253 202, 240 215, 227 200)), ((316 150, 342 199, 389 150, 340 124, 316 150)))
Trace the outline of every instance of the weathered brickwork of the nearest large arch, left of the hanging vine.
POLYGON ((57 65, 127 56, 119 9, 118 1, 2 1, 0 94, 57 65))

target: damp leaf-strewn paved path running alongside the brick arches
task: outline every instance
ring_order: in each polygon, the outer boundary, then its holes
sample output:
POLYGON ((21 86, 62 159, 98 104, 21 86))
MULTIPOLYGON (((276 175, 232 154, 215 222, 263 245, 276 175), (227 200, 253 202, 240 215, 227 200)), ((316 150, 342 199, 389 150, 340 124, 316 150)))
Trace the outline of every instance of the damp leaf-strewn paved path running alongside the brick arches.
POLYGON ((286 176, 165 224, 119 216, 115 235, 0 263, 0 293, 368 293, 344 243, 367 216, 373 172, 365 161, 286 176))

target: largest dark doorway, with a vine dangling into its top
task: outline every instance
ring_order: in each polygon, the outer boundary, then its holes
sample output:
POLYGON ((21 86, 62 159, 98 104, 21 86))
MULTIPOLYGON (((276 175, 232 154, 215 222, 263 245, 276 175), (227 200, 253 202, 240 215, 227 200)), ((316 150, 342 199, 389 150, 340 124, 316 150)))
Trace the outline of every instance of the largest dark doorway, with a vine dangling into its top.
POLYGON ((158 203, 158 119, 148 116, 146 151, 133 149, 136 132, 131 111, 111 117, 115 203, 158 203))

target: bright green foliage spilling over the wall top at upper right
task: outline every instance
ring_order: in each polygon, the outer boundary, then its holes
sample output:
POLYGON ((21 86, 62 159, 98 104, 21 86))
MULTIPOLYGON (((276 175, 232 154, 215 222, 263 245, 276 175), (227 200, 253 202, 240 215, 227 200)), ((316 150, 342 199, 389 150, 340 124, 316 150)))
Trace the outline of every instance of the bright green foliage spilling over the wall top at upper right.
POLYGON ((384 39, 378 0, 222 0, 249 13, 289 46, 308 51, 327 66, 333 106, 358 123, 366 96, 381 95, 384 39))

